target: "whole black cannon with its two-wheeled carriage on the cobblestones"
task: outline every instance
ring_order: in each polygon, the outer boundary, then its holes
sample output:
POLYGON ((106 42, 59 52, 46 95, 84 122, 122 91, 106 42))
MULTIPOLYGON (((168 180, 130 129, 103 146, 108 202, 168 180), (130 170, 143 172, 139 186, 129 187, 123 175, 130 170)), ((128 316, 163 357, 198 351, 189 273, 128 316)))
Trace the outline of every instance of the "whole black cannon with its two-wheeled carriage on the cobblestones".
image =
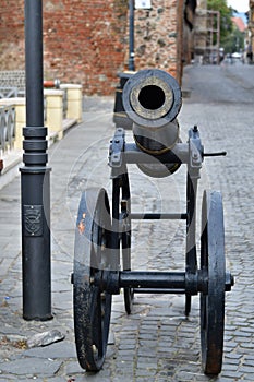
POLYGON ((222 367, 225 295, 233 286, 233 276, 226 270, 221 193, 204 191, 199 246, 196 240, 196 194, 204 158, 226 153, 205 153, 196 126, 189 130, 188 142, 182 142, 177 120, 182 105, 181 89, 169 73, 156 69, 137 72, 125 83, 122 100, 132 121, 133 140, 126 142, 124 129, 118 127, 110 141, 111 204, 104 188, 90 188, 82 193, 77 211, 72 283, 80 365, 87 371, 101 369, 112 295, 121 289, 128 314, 132 312, 135 294, 162 293, 185 295, 188 317, 192 296, 199 294, 202 366, 206 374, 218 374, 222 367), (129 164, 137 165, 146 176, 156 177, 158 181, 185 165, 185 212, 132 212, 129 164), (183 272, 132 268, 134 219, 185 220, 183 272))

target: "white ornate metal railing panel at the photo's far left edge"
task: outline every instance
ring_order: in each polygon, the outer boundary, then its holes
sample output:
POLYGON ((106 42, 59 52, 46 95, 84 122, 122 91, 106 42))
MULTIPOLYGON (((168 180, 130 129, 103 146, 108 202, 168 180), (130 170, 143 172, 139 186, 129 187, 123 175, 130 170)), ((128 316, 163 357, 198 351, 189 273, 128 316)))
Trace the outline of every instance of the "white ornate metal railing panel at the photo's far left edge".
POLYGON ((15 107, 0 106, 0 151, 13 148, 15 139, 15 107))

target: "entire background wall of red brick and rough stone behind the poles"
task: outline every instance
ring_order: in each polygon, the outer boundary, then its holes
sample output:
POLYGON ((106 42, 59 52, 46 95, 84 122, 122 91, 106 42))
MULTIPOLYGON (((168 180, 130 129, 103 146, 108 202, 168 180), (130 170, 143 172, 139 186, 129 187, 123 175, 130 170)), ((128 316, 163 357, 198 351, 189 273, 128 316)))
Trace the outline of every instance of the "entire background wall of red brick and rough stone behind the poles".
MULTIPOLYGON (((81 83, 85 94, 113 94, 128 67, 128 0, 44 0, 45 79, 81 83)), ((183 0, 135 10, 135 68, 181 77, 183 0)), ((24 69, 24 0, 1 0, 0 70, 24 69)))

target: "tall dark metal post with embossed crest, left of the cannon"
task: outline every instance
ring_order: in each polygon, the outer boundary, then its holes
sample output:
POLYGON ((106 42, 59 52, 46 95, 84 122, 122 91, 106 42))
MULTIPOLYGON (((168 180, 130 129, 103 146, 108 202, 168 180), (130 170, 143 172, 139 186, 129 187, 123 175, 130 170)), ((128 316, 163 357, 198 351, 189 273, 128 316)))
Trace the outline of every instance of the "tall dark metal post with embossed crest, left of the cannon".
POLYGON ((23 318, 51 314, 50 168, 44 127, 43 1, 25 0, 26 127, 23 129, 23 318))

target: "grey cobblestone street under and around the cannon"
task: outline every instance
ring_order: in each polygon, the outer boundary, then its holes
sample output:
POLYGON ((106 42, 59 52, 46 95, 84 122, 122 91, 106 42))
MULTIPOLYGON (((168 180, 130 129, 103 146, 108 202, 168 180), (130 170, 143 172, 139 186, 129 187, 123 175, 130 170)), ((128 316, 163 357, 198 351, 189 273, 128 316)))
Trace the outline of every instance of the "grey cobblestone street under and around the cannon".
MULTIPOLYGON (((107 165, 113 98, 84 99, 84 122, 50 147, 52 311, 53 320, 22 319, 20 177, 0 190, 0 381, 186 382, 254 380, 254 68, 233 64, 186 67, 179 115, 181 139, 197 124, 205 153, 198 191, 222 192, 227 267, 235 285, 227 294, 225 357, 218 378, 201 367, 199 298, 189 319, 184 296, 137 295, 126 315, 123 295, 113 296, 110 338, 104 369, 84 372, 76 360, 71 273, 74 228, 81 191, 89 186, 111 192, 107 165), (35 333, 58 329, 65 338, 45 347, 26 348, 35 333)), ((131 132, 128 132, 131 139, 131 132)), ((182 212, 185 166, 176 175, 154 179, 130 166, 133 212, 182 212)), ((199 220, 199 219, 198 219, 199 220)), ((199 225, 199 223, 198 223, 199 225)), ((183 222, 133 223, 133 270, 184 271, 183 222)), ((198 244, 199 246, 199 244, 198 244)), ((199 260, 199 255, 198 255, 199 260)))

